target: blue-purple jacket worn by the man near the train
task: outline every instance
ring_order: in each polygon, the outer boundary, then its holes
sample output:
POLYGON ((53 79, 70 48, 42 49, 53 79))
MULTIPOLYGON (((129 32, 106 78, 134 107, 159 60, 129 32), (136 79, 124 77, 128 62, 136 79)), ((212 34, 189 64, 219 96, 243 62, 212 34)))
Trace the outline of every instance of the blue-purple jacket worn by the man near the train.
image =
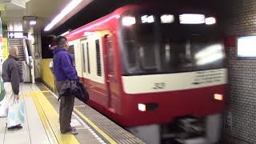
POLYGON ((54 76, 56 81, 78 80, 72 56, 61 47, 54 49, 54 76))

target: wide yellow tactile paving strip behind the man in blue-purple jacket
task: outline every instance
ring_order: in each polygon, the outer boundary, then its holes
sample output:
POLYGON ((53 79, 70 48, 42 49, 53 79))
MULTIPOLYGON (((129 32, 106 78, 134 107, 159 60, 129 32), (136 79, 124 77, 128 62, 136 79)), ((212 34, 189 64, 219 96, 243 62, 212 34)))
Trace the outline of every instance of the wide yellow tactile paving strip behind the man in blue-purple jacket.
POLYGON ((38 109, 38 114, 42 120, 42 124, 46 130, 46 134, 53 144, 77 144, 78 140, 74 135, 61 134, 59 130, 58 112, 50 104, 42 91, 33 91, 26 94, 34 99, 34 103, 38 109))

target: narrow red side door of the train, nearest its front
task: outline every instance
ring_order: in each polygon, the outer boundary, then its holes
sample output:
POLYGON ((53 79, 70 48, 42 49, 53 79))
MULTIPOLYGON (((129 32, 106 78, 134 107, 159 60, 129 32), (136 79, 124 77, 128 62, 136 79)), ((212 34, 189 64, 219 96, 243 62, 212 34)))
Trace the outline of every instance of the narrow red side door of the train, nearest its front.
POLYGON ((106 74, 106 83, 108 89, 108 106, 112 108, 112 98, 113 98, 113 88, 114 88, 114 50, 113 50, 113 41, 110 35, 106 36, 106 67, 107 67, 107 74, 106 74))

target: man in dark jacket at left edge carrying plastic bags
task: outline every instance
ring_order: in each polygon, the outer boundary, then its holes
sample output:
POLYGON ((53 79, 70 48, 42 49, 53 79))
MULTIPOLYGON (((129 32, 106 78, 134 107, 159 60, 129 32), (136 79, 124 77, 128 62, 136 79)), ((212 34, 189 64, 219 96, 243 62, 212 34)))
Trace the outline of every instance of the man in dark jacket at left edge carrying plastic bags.
MULTIPOLYGON (((22 82, 22 74, 18 65, 18 47, 10 46, 9 57, 2 64, 2 80, 6 90, 6 106, 10 107, 15 100, 19 100, 19 83, 22 82), (8 99, 8 100, 7 100, 8 99)), ((7 108, 7 107, 6 107, 7 108)), ((1 109, 5 109, 1 106, 1 109)), ((8 110, 6 110, 8 111, 8 110)), ((7 118, 8 121, 9 118, 7 118)), ((8 130, 22 129, 21 125, 8 127, 8 130)))

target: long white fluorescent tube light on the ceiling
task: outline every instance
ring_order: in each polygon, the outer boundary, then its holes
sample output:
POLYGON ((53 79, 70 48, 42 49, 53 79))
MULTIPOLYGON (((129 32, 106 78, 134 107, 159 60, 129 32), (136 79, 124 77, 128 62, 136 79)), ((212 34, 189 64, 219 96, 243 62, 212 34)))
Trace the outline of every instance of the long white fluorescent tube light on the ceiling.
POLYGON ((58 22, 62 20, 66 16, 66 14, 69 14, 71 10, 74 10, 78 4, 82 2, 82 0, 72 0, 62 11, 60 14, 58 14, 53 21, 51 21, 45 28, 45 31, 49 31, 51 28, 53 28, 58 22))

